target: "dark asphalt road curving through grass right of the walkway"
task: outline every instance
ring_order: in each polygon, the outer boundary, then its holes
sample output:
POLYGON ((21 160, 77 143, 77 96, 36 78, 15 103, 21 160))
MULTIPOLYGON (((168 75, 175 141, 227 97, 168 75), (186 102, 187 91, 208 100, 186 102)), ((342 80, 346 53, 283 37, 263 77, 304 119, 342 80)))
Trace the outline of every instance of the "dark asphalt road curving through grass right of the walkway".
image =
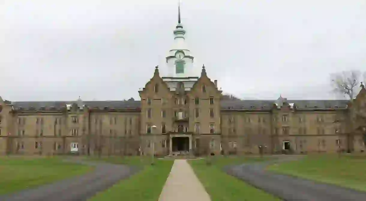
POLYGON ((226 167, 224 170, 286 201, 366 200, 366 192, 265 171, 264 168, 271 163, 273 162, 242 164, 226 167))

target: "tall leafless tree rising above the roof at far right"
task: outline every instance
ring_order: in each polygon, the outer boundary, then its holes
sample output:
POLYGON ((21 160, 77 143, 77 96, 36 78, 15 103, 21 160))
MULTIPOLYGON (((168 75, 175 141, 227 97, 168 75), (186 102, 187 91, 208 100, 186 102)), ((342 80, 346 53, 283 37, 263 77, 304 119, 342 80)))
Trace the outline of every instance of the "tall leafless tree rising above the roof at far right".
POLYGON ((351 101, 357 95, 358 86, 362 80, 360 71, 333 73, 330 79, 333 92, 343 95, 351 101))

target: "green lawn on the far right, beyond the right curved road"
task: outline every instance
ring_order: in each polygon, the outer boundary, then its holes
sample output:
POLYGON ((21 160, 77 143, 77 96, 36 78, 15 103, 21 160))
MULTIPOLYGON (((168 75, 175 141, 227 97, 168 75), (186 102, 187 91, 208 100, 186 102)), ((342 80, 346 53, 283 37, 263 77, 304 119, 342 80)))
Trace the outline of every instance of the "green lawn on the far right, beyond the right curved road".
POLYGON ((366 191, 366 156, 309 155, 268 170, 366 191))

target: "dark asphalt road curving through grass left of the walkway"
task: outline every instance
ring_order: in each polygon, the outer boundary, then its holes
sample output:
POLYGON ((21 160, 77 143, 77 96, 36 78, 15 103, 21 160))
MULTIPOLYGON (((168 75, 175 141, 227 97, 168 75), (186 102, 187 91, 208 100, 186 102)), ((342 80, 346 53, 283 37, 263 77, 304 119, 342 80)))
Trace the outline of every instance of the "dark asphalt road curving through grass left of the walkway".
POLYGON ((121 179, 137 172, 137 168, 99 162, 68 160, 71 162, 95 166, 93 172, 42 185, 14 194, 0 196, 4 201, 82 201, 93 197, 98 191, 108 189, 121 179))

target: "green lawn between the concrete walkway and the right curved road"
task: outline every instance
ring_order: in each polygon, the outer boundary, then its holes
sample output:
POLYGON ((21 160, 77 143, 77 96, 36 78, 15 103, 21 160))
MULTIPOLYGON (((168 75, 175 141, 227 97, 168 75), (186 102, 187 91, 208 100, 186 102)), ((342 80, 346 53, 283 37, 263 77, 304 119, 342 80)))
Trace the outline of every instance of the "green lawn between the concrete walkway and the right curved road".
POLYGON ((212 201, 280 200, 222 171, 224 166, 230 164, 261 162, 269 158, 216 157, 214 159, 209 166, 206 164, 206 160, 188 160, 212 201))

